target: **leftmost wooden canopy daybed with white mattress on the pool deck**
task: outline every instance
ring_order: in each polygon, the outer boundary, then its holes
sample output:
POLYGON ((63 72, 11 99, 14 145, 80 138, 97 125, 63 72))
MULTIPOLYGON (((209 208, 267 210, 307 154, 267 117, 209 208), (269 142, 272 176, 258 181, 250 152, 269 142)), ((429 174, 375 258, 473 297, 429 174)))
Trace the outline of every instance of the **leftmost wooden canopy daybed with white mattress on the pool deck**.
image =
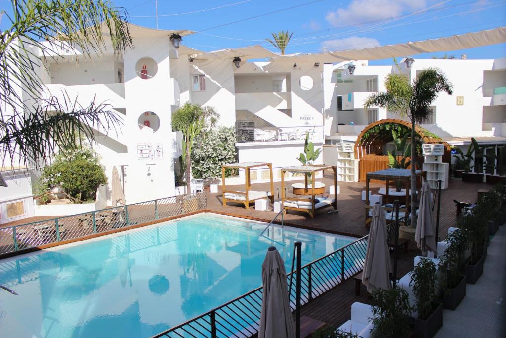
POLYGON ((223 179, 223 206, 227 205, 228 201, 236 202, 236 203, 243 203, 244 207, 249 209, 249 204, 255 202, 256 200, 265 199, 268 197, 271 200, 271 203, 274 203, 274 182, 272 181, 272 164, 267 162, 243 162, 243 163, 231 163, 226 164, 222 166, 222 179, 223 179), (251 191, 249 188, 251 187, 251 181, 250 181, 250 168, 258 168, 258 167, 268 167, 269 168, 269 175, 271 179, 271 191, 270 195, 269 192, 256 192, 251 191), (234 191, 234 190, 227 190, 225 185, 225 170, 227 168, 230 169, 244 169, 244 175, 245 175, 245 182, 244 191, 234 191), (262 193, 265 193, 262 194, 262 193))

